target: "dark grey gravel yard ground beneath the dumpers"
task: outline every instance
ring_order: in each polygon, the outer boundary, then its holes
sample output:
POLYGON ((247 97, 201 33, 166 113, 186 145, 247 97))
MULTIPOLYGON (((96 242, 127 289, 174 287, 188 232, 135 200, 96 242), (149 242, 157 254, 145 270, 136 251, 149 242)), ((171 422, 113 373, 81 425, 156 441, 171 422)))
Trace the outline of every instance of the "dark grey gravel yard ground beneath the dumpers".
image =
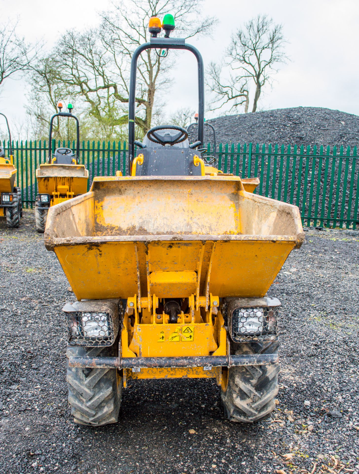
POLYGON ((225 420, 209 380, 131 383, 119 423, 73 424, 68 283, 32 211, 0 222, 0 473, 359 473, 359 232, 309 229, 269 291, 282 301, 271 419, 225 420))

